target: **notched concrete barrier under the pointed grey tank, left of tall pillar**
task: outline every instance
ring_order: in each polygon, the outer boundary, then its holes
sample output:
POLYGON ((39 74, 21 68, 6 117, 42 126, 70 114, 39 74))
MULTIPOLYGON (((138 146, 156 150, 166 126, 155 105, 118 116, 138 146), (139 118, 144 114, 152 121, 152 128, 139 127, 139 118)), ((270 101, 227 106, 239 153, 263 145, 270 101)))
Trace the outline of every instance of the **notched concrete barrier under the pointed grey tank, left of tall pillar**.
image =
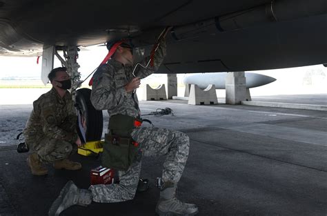
POLYGON ((209 105, 218 104, 215 85, 209 85, 205 90, 201 90, 197 85, 190 87, 190 96, 188 97, 190 105, 209 105))

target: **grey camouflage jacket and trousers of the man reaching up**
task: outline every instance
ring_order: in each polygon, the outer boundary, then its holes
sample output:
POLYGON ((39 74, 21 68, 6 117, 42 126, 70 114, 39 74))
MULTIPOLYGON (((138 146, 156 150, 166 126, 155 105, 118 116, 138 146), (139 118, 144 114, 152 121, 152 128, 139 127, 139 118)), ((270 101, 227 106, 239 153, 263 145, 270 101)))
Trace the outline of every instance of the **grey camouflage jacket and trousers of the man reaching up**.
MULTIPOLYGON (((155 72, 166 56, 166 42, 161 41, 155 53, 154 66, 138 66, 135 75, 141 79, 155 72)), ((148 63, 144 59, 143 66, 148 63)), ((137 95, 126 92, 124 86, 134 77, 132 66, 123 66, 113 59, 101 66, 94 75, 91 101, 97 110, 108 110, 110 116, 123 114, 140 117, 137 95)), ((163 181, 177 184, 188 158, 189 138, 182 132, 164 128, 135 128, 132 139, 139 142, 135 161, 127 171, 119 171, 119 184, 90 186, 92 200, 95 202, 121 202, 133 199, 139 182, 141 157, 167 155, 162 173, 163 181)))

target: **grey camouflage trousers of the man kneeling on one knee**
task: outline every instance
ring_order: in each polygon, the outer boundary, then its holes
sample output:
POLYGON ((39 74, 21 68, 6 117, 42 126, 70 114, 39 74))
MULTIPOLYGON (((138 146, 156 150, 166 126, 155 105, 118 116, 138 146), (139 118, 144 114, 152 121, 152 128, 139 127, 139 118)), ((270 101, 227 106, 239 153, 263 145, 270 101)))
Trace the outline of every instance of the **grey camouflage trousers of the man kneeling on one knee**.
POLYGON ((186 134, 165 128, 135 128, 131 135, 140 146, 135 161, 127 171, 119 170, 119 184, 90 186, 94 202, 122 202, 133 199, 139 183, 142 156, 166 155, 162 181, 177 184, 181 178, 190 148, 190 140, 186 134))

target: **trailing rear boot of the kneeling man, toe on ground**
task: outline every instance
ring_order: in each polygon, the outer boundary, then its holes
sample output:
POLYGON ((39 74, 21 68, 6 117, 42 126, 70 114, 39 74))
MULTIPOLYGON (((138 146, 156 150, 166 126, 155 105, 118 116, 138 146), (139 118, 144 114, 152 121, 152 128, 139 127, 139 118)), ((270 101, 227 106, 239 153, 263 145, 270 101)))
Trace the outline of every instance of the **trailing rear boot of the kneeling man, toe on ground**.
POLYGON ((90 190, 80 189, 72 181, 61 189, 59 197, 52 203, 49 210, 49 216, 58 216, 70 206, 88 206, 92 202, 92 193, 90 190))

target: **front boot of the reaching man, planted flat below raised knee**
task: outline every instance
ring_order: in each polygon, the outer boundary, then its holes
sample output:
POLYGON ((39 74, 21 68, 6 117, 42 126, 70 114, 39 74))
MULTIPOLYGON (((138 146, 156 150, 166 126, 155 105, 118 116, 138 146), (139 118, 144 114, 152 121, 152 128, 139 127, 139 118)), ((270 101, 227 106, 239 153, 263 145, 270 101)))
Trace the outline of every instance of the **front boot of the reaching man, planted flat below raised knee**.
POLYGON ((160 198, 157 203, 156 213, 160 216, 191 216, 196 215, 199 210, 195 204, 186 204, 176 197, 176 184, 165 182, 161 186, 160 198))

